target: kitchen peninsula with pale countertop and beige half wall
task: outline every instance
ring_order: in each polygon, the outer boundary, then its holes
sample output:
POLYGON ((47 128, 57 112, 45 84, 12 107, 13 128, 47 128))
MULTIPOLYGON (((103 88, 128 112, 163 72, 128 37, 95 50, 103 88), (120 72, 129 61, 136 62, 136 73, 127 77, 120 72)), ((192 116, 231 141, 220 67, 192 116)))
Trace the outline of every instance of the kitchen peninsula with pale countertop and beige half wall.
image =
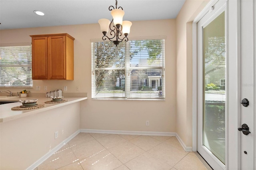
MULTIPOLYGON (((87 97, 65 97, 64 103, 44 103, 49 97, 0 97, 0 101, 38 99, 45 107, 11 110, 22 103, 0 105, 0 169, 34 169, 80 132, 80 105, 87 97)), ((66 145, 66 147, 69 147, 66 145)))

